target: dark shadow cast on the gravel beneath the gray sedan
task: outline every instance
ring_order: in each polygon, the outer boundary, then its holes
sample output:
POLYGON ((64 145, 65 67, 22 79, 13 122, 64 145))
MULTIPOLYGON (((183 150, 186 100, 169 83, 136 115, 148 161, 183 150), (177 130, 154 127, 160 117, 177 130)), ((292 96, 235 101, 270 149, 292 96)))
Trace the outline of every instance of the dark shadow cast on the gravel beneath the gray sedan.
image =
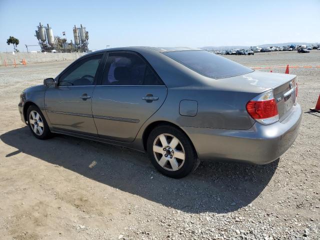
MULTIPOLYGON (((184 212, 227 213, 248 205, 265 188, 278 160, 266 165, 203 162, 191 175, 171 179, 157 172, 146 154, 71 136, 36 139, 28 127, 1 140, 17 150, 95 181, 184 212)), ((14 158, 12 158, 14 159, 14 158)))

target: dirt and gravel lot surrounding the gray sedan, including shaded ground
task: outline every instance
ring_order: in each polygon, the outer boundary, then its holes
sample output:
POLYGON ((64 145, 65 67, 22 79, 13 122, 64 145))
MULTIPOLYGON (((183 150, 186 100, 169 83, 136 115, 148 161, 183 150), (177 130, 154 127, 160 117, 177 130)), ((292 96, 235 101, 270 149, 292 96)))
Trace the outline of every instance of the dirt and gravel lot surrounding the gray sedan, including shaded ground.
MULTIPOLYGON (((319 65, 320 51, 229 58, 250 67, 319 65)), ((202 162, 171 179, 143 153, 32 136, 17 111, 19 94, 68 63, 0 67, 1 239, 320 238, 320 113, 308 110, 320 92, 320 68, 290 69, 303 119, 279 161, 202 162)))

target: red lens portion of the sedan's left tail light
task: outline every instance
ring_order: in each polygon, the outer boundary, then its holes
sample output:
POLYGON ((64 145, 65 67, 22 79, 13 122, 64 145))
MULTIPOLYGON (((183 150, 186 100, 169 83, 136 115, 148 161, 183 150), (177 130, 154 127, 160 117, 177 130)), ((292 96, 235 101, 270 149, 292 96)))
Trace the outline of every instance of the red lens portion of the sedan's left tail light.
POLYGON ((246 110, 254 119, 263 119, 278 114, 274 99, 266 101, 249 101, 246 103, 246 110))

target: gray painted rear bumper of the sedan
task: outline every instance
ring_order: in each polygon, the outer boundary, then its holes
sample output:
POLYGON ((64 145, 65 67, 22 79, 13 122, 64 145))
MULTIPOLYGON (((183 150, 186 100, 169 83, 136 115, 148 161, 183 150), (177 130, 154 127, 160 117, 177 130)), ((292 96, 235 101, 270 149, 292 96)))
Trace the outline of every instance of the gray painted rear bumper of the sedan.
POLYGON ((299 104, 281 122, 254 123, 247 130, 182 127, 201 160, 227 158, 264 164, 277 159, 294 142, 302 117, 299 104))

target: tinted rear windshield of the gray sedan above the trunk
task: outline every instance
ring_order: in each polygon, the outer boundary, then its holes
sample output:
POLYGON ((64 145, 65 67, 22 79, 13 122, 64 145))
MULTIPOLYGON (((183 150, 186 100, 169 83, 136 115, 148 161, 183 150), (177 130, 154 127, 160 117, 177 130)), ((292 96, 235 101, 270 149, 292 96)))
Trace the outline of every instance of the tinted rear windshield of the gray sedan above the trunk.
POLYGON ((251 68, 204 50, 169 51, 163 54, 211 78, 224 78, 252 72, 251 68))

